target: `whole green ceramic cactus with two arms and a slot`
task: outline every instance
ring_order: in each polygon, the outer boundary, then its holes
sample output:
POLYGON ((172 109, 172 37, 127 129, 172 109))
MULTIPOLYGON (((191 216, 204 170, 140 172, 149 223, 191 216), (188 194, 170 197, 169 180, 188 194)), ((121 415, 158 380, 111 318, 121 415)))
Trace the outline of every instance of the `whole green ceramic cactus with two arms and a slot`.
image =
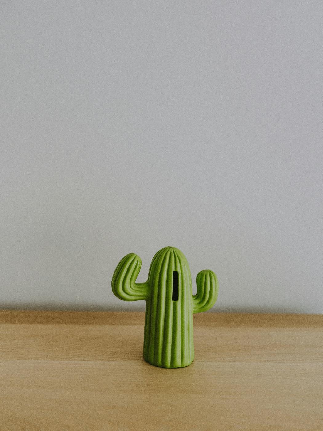
POLYGON ((194 359, 193 313, 214 305, 217 277, 208 269, 199 272, 192 295, 188 262, 175 247, 155 254, 145 283, 136 283, 140 267, 139 256, 124 256, 113 274, 112 291, 124 301, 146 301, 144 359, 158 367, 186 367, 194 359))

